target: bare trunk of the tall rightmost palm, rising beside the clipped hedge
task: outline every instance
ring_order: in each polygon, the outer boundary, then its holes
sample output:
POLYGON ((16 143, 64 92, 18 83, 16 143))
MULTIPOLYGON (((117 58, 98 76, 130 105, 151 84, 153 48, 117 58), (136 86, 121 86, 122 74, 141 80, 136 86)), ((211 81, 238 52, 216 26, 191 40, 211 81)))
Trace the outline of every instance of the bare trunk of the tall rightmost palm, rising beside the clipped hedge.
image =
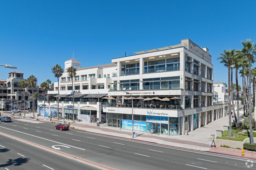
POLYGON ((251 103, 251 56, 248 56, 248 68, 249 68, 249 86, 248 86, 248 106, 249 106, 249 129, 250 129, 250 142, 252 145, 254 145, 253 140, 253 127, 252 127, 252 103, 251 103))

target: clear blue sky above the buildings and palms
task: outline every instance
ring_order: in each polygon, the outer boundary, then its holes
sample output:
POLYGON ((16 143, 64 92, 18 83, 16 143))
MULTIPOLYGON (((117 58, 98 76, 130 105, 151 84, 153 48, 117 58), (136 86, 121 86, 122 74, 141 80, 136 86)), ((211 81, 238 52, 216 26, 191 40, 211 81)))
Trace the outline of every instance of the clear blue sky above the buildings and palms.
MULTIPOLYGON (((74 58, 82 67, 111 63, 125 52, 179 44, 207 47, 214 82, 228 83, 216 60, 223 49, 256 43, 255 1, 0 1, 0 79, 19 71, 40 85, 57 82, 51 67, 74 58)), ((255 64, 253 65, 255 66, 255 64)), ((235 73, 234 73, 235 81, 235 73)), ((242 86, 242 80, 239 79, 242 86)))

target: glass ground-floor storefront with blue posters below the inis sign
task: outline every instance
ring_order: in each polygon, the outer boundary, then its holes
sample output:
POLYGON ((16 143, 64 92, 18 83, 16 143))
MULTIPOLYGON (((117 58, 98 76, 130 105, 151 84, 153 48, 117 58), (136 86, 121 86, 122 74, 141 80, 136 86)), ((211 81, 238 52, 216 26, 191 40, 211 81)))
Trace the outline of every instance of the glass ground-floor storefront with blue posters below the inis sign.
MULTIPOLYGON (((107 112, 107 126, 132 130, 132 115, 107 112)), ((152 116, 134 114, 135 131, 179 135, 181 121, 179 117, 152 116)))

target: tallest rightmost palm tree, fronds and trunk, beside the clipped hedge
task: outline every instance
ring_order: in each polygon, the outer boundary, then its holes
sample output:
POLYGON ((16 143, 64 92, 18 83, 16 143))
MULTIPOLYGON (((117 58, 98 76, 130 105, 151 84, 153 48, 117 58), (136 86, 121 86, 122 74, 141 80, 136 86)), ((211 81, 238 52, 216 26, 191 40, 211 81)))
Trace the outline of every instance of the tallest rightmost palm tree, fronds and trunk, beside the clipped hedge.
POLYGON ((254 145, 254 140, 253 140, 253 127, 252 127, 252 105, 251 105, 251 59, 253 56, 256 54, 256 44, 251 42, 251 40, 247 39, 245 41, 241 41, 242 45, 244 46, 242 48, 242 52, 247 56, 248 58, 248 69, 249 69, 249 86, 248 86, 248 107, 249 107, 249 128, 250 128, 250 141, 251 144, 254 145))

